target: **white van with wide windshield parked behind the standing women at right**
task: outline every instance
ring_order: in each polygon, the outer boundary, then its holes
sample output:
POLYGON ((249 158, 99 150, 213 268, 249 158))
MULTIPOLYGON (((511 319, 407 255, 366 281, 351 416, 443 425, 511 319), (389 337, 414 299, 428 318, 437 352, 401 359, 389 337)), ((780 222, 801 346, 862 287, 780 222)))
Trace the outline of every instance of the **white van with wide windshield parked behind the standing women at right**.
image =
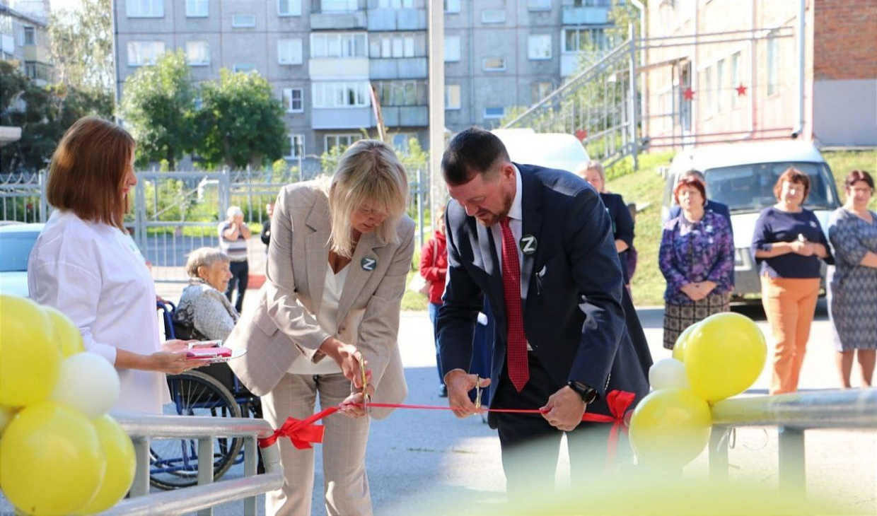
MULTIPOLYGON (((828 219, 838 208, 838 190, 822 154, 806 142, 779 141, 709 145, 676 155, 667 174, 661 216, 664 221, 673 204, 673 188, 679 174, 695 169, 707 180, 707 198, 728 205, 734 230, 734 298, 760 294, 759 267, 752 259, 752 230, 759 212, 776 203, 774 184, 789 166, 810 179, 804 208, 811 209, 828 234, 828 219)), ((825 265, 823 263, 823 286, 825 265)))

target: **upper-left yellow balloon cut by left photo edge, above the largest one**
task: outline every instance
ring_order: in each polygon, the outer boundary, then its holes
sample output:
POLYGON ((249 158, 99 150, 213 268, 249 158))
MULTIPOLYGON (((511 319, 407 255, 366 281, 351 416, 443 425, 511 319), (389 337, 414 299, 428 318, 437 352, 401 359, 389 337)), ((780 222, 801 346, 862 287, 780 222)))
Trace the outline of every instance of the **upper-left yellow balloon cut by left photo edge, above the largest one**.
POLYGON ((61 348, 52 321, 32 300, 0 295, 0 405, 46 399, 58 381, 61 348))

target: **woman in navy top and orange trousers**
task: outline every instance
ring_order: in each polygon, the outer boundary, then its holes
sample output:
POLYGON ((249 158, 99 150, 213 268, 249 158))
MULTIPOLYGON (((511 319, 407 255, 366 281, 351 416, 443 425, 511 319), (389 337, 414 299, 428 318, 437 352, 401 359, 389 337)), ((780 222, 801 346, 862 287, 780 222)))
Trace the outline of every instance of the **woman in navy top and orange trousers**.
POLYGON ((774 185, 777 203, 761 210, 752 232, 761 303, 776 345, 771 394, 798 390, 819 296, 819 259, 833 262, 822 226, 802 208, 809 191, 807 174, 789 167, 774 185))

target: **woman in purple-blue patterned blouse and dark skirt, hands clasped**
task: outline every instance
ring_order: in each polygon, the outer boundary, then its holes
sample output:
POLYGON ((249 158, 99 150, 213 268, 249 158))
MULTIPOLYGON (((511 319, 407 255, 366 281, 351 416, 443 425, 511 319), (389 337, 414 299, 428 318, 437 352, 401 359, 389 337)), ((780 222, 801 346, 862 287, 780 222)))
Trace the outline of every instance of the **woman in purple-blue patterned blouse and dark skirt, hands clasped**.
POLYGON ((674 187, 682 211, 667 221, 660 241, 664 292, 664 347, 672 350, 683 330, 709 315, 727 312, 734 271, 734 237, 728 220, 705 209, 703 183, 683 178, 674 187))

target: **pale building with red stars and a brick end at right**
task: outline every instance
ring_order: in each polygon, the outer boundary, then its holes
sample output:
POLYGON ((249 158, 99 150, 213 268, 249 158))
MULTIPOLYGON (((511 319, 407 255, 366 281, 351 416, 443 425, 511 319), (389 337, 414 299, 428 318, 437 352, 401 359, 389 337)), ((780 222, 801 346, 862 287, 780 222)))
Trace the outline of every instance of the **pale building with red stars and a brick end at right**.
POLYGON ((877 145, 877 2, 660 0, 647 20, 653 144, 877 145))

